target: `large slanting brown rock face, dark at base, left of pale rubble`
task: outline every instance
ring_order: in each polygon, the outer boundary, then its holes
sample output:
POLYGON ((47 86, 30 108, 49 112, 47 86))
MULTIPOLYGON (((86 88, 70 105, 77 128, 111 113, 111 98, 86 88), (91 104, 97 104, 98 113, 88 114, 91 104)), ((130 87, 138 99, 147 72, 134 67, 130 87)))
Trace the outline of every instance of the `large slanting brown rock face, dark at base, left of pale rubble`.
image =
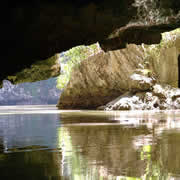
MULTIPOLYGON (((63 109, 91 109, 106 104, 131 87, 134 88, 135 81, 131 75, 142 63, 143 49, 136 45, 128 45, 126 49, 118 51, 102 52, 82 61, 72 72, 58 106, 63 109)), ((142 82, 142 89, 147 88, 143 87, 146 80, 139 81, 142 82)))

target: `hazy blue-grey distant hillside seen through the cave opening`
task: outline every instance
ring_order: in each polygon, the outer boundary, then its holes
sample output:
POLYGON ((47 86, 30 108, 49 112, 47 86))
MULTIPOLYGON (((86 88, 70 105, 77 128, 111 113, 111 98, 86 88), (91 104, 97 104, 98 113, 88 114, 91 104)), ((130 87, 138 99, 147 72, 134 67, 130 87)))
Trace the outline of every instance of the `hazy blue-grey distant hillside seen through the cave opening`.
POLYGON ((60 93, 56 88, 56 78, 17 85, 4 80, 0 105, 57 104, 60 93))

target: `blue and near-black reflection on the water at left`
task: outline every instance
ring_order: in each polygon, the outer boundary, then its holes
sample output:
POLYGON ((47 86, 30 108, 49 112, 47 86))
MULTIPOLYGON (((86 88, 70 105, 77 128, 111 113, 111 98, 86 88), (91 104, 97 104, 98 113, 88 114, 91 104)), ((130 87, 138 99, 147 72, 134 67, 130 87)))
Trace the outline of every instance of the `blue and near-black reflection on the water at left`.
POLYGON ((0 179, 61 179, 58 114, 8 112, 0 111, 0 179))

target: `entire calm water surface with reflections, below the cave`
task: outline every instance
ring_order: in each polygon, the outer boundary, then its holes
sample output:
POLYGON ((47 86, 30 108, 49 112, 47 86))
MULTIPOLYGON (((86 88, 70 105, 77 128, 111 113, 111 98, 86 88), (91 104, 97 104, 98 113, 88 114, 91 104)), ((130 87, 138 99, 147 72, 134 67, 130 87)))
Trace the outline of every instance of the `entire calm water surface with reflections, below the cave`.
POLYGON ((180 111, 0 107, 0 180, 178 180, 180 111))

